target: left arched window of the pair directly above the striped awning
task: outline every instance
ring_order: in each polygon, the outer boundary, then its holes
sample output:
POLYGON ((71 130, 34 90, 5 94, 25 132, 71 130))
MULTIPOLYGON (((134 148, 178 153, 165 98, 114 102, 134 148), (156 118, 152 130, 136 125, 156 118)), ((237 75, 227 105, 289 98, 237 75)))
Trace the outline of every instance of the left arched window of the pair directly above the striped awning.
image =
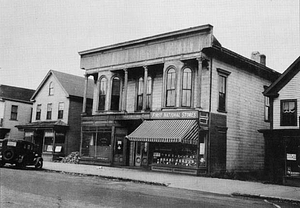
POLYGON ((165 83, 165 87, 166 87, 166 91, 165 91, 165 107, 167 108, 172 108, 176 106, 176 82, 177 82, 177 72, 176 72, 176 68, 175 67, 169 67, 166 70, 166 83, 165 83), (173 70, 174 72, 169 73, 171 70, 173 70), (171 86, 169 88, 169 75, 171 75, 170 79, 171 79, 171 86), (174 76, 173 76, 174 75, 174 76), (170 95, 169 95, 170 92, 170 95), (174 93, 174 95, 172 96, 172 94, 174 93), (170 96, 170 98, 169 98, 170 96), (171 103, 170 103, 171 102, 171 103))

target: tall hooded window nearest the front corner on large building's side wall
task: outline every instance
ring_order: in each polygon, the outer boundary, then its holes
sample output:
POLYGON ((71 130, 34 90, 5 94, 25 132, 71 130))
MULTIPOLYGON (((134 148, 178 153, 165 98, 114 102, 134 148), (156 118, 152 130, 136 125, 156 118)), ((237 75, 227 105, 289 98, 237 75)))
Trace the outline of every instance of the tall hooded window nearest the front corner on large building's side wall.
POLYGON ((228 97, 228 76, 231 72, 217 68, 218 72, 218 112, 227 113, 227 97, 228 97), (224 82, 221 83, 221 80, 224 82), (221 86, 222 85, 222 86, 221 86), (223 89, 223 91, 222 91, 223 89), (221 93, 224 101, 221 100, 221 93), (221 103, 222 102, 222 103, 221 103))

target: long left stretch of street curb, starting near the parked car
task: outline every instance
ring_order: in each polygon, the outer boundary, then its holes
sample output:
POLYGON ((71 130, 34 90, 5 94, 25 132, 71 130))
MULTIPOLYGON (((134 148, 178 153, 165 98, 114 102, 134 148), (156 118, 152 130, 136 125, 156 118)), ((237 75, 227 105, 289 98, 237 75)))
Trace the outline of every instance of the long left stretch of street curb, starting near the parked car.
POLYGON ((93 177, 99 177, 104 179, 110 179, 110 180, 119 180, 124 182, 134 182, 134 183, 143 183, 148 185, 156 185, 156 186, 165 186, 168 187, 168 184, 165 183, 158 183, 158 182, 151 182, 151 181, 142 181, 142 180, 135 180, 130 178, 121 178, 121 177, 114 177, 114 176, 103 176, 103 175, 94 175, 94 174, 86 174, 86 173, 74 173, 74 172, 68 172, 68 171, 60 171, 60 170, 51 170, 51 169, 43 169, 47 172, 54 172, 54 173, 62 173, 62 174, 68 174, 68 175, 74 175, 74 176, 93 176, 93 177))

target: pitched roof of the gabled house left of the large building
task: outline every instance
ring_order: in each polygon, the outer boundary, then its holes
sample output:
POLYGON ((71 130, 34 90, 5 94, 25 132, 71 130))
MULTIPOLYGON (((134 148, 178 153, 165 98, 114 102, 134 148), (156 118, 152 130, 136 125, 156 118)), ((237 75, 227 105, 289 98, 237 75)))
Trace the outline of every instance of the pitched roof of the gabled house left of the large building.
MULTIPOLYGON (((35 96, 38 94, 38 92, 44 86, 44 84, 50 76, 54 76, 57 79, 57 81, 61 84, 62 88, 68 94, 68 97, 83 97, 85 90, 85 78, 83 76, 80 77, 73 74, 67 74, 64 72, 50 70, 41 82, 41 84, 38 86, 31 99, 35 98, 35 96)), ((93 89, 92 81, 89 81, 88 89, 93 89)), ((93 90, 87 91, 87 98, 93 98, 93 90)))

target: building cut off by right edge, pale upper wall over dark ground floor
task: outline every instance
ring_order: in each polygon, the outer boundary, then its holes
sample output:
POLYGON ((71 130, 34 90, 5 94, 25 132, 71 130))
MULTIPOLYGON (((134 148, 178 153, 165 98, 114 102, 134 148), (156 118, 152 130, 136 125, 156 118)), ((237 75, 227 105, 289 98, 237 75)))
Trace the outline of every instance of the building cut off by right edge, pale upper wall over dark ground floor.
MULTIPOLYGON (((266 143, 266 174, 275 182, 300 186, 300 57, 270 86, 270 127, 261 129, 266 143)), ((266 114, 268 115, 268 113, 266 114)))

